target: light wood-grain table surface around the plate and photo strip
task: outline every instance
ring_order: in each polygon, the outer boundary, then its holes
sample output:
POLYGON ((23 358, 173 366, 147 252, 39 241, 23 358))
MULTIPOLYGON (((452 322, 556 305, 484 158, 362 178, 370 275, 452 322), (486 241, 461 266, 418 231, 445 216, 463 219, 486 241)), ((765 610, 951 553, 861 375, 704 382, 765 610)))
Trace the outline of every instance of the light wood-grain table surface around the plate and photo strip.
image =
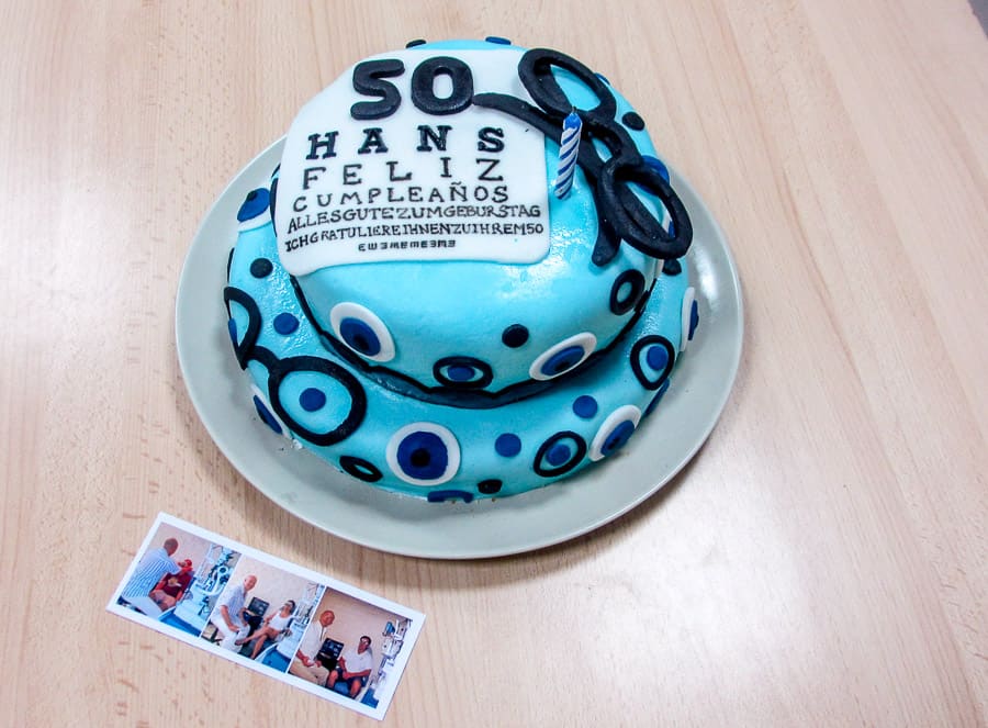
POLYGON ((4 725, 374 725, 104 611, 159 511, 428 615, 393 726, 984 726, 988 8, 0 7, 4 725), (226 182, 357 59, 509 37, 606 75, 726 231, 712 436, 587 536, 378 552, 206 434, 175 296, 226 182))

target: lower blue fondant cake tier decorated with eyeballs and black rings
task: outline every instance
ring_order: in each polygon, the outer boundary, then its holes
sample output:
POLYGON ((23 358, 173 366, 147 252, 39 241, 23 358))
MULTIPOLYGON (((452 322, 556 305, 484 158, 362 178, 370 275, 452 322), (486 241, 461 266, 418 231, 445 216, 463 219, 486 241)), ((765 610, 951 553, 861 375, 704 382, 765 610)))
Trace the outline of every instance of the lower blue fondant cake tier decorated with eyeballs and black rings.
POLYGON ((252 392, 274 432, 364 483, 469 502, 541 488, 628 443, 660 405, 698 323, 681 262, 655 280, 631 329, 596 365, 481 410, 400 394, 324 346, 279 264, 270 217, 242 225, 224 299, 235 355, 252 380, 245 400, 252 392))

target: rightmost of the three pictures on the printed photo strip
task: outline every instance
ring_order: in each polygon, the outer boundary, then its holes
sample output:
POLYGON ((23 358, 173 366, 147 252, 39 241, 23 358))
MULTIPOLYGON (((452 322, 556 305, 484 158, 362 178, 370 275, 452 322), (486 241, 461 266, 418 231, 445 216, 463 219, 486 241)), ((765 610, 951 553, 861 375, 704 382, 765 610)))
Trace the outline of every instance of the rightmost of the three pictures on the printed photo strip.
POLYGON ((401 675, 412 619, 327 587, 289 674, 377 707, 401 675))

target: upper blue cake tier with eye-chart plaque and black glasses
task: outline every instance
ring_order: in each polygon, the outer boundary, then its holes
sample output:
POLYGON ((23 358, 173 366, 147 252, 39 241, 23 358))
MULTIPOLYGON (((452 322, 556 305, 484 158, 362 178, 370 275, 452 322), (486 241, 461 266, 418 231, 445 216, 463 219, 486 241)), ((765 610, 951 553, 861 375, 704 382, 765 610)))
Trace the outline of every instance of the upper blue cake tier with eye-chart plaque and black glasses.
POLYGON ((324 343, 388 389, 460 407, 593 367, 692 236, 605 79, 491 41, 347 70, 292 124, 274 192, 279 257, 324 343))

